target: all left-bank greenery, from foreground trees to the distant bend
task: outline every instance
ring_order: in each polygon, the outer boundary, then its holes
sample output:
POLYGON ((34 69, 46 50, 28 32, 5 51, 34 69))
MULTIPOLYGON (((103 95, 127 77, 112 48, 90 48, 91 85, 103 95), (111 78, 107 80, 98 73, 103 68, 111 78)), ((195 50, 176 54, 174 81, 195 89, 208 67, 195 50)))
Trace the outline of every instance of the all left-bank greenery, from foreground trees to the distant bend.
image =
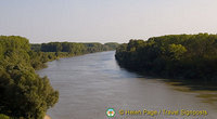
POLYGON ((35 70, 60 57, 115 50, 118 44, 50 42, 29 44, 26 38, 0 36, 0 118, 42 119, 59 100, 47 77, 35 70))

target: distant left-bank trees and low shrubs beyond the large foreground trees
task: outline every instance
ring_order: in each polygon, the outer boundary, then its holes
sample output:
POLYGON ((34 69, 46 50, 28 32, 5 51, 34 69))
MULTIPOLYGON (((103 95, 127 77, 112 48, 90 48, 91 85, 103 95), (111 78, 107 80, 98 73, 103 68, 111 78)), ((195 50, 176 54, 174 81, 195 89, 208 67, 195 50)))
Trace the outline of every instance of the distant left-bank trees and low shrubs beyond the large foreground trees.
POLYGON ((102 52, 116 50, 119 44, 116 42, 108 42, 101 44, 92 43, 76 43, 76 42, 49 42, 42 44, 30 44, 31 52, 29 52, 33 61, 31 66, 35 69, 44 68, 47 62, 58 60, 61 57, 69 57, 87 53, 102 52))

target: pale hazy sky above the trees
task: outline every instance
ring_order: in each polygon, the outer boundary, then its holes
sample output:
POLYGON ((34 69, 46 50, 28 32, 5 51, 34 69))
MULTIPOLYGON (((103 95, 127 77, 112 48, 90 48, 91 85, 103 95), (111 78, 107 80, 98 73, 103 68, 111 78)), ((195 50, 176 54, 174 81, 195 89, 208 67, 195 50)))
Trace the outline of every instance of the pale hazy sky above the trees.
POLYGON ((31 43, 217 32, 217 0, 0 0, 0 35, 31 43))

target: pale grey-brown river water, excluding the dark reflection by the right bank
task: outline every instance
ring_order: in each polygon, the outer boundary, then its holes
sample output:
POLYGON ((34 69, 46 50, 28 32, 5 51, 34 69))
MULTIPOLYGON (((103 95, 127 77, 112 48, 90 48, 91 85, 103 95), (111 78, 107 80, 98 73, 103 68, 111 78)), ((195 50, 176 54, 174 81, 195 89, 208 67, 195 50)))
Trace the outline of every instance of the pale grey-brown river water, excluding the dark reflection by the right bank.
POLYGON ((106 119, 106 109, 113 108, 114 119, 217 119, 216 103, 212 102, 215 98, 204 98, 216 91, 191 91, 127 71, 117 65, 114 54, 110 51, 62 58, 38 70, 60 91, 59 103, 47 114, 52 119, 106 119), (179 114, 143 114, 164 109, 179 114), (129 115, 128 110, 141 110, 142 115, 129 115), (205 110, 208 115, 181 115, 186 110, 205 110))

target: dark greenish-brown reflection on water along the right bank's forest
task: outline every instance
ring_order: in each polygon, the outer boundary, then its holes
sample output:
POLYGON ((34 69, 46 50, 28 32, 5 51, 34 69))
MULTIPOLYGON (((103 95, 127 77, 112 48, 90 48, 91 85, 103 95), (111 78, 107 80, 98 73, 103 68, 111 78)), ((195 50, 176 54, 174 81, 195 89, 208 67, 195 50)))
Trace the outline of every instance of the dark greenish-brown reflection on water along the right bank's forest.
POLYGON ((138 74, 139 75, 138 78, 162 80, 176 91, 186 92, 186 93, 194 93, 196 97, 202 98, 203 103, 212 104, 217 108, 217 82, 216 81, 214 82, 214 81, 196 80, 196 79, 168 79, 168 78, 166 79, 162 77, 145 75, 140 71, 130 70, 128 68, 123 67, 122 65, 119 65, 119 67, 129 72, 138 74))

